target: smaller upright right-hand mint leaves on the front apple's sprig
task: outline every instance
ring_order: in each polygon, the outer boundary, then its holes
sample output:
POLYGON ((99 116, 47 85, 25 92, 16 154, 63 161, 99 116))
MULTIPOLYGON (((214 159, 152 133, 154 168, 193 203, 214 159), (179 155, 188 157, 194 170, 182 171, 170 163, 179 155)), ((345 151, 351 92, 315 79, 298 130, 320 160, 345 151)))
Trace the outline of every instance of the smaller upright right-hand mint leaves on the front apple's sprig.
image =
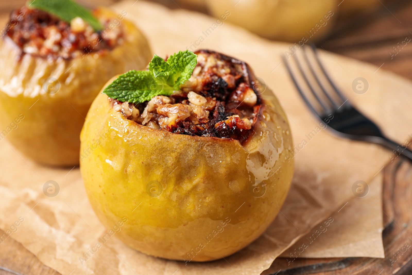
POLYGON ((166 62, 155 54, 149 63, 149 71, 155 78, 160 78, 178 90, 192 75, 197 64, 196 58, 197 55, 188 50, 171 55, 166 62))

